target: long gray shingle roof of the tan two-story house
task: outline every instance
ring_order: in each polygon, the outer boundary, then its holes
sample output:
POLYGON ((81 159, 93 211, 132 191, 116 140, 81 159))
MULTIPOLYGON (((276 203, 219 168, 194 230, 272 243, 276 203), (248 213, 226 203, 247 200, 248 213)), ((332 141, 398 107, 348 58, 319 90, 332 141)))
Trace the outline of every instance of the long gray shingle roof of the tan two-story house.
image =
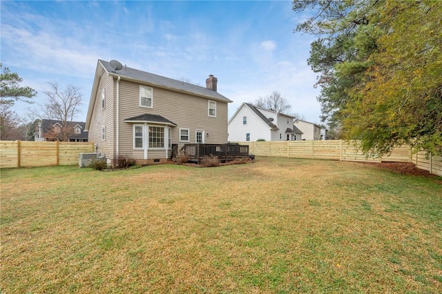
POLYGON ((137 81, 144 81, 147 84, 151 84, 153 86, 159 86, 164 88, 171 88, 183 92, 193 93, 195 95, 201 95, 204 97, 209 97, 212 99, 232 102, 229 98, 224 97, 220 93, 215 90, 211 90, 202 86, 197 86, 189 83, 185 83, 184 81, 178 81, 176 79, 169 79, 168 77, 162 77, 160 75, 154 75, 150 72, 144 72, 142 70, 136 70, 135 68, 129 68, 127 66, 123 66, 121 70, 115 70, 111 66, 110 61, 104 61, 99 59, 99 63, 106 69, 106 71, 112 75, 119 75, 122 78, 134 79, 137 81))

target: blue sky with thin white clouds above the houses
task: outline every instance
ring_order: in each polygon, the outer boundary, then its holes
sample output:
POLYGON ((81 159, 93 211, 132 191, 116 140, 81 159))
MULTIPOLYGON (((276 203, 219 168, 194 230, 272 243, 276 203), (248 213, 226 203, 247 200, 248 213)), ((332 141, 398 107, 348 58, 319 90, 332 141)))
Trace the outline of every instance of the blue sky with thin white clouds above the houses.
MULTIPOLYGON (((48 82, 79 86, 86 112, 97 59, 205 86, 242 102, 281 93, 293 111, 319 122, 316 74, 307 65, 313 37, 291 1, 1 1, 1 62, 39 92, 48 82)), ((25 113, 35 105, 18 103, 25 113)))

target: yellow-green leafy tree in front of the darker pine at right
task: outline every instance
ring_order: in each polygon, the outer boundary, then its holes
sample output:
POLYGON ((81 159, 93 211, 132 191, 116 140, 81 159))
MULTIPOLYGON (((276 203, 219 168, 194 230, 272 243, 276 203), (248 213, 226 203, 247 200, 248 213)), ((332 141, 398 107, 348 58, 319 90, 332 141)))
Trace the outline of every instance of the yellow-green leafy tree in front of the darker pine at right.
POLYGON ((354 86, 345 110, 347 137, 363 150, 388 153, 410 144, 439 153, 442 146, 442 2, 387 1, 387 30, 369 57, 365 84, 354 86))

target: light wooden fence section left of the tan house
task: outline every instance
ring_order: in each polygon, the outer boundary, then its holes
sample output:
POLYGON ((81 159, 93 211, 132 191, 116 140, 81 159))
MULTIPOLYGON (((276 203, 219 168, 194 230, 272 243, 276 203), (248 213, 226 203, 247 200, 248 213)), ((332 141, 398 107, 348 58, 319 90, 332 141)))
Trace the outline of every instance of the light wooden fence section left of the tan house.
POLYGON ((93 142, 0 141, 0 168, 74 165, 89 152, 93 142))

